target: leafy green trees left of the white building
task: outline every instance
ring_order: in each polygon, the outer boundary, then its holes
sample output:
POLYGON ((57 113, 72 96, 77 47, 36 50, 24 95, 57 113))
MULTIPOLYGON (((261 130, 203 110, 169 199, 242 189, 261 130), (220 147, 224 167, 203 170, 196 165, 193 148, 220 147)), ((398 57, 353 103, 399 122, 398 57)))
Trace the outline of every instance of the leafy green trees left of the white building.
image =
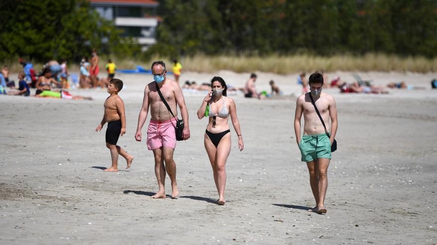
POLYGON ((134 55, 112 22, 92 11, 87 0, 6 0, 0 3, 0 60, 17 55, 46 62, 79 59, 98 51, 134 55), (106 42, 102 42, 102 40, 106 42))

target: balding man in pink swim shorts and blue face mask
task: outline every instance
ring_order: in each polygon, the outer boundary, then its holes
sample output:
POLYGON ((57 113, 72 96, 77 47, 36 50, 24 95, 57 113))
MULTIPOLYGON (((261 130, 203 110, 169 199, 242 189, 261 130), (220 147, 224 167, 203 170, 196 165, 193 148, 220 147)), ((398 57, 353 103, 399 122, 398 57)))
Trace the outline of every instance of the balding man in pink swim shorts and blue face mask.
POLYGON ((183 140, 190 138, 188 126, 188 111, 185 105, 184 95, 179 84, 166 77, 167 70, 162 61, 152 64, 153 82, 147 84, 144 90, 143 106, 138 116, 138 127, 135 139, 141 141, 141 129, 146 122, 148 108, 150 107, 150 123, 147 128, 147 149, 153 151, 155 158, 155 175, 158 181, 159 191, 153 198, 165 198, 165 173, 171 180, 171 197, 176 198, 179 192, 176 184, 176 163, 173 160, 173 152, 176 147, 175 127, 177 122, 177 105, 184 120, 183 140), (162 96, 175 115, 173 117, 164 102, 159 97, 157 86, 162 96), (165 162, 165 166, 164 166, 165 162))

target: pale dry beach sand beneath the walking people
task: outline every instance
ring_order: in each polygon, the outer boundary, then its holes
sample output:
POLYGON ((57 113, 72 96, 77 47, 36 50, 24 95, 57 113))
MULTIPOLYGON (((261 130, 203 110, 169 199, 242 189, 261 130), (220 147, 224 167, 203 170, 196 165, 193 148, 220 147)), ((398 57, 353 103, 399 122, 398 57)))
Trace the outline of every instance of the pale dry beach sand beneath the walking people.
MULTIPOLYGON (((350 73, 336 74, 352 81, 350 73)), ((249 77, 184 73, 181 81, 209 82, 213 75, 238 87, 249 77)), ((325 90, 336 98, 339 118, 326 215, 306 211, 314 200, 292 126, 296 74, 259 73, 258 88, 274 79, 287 95, 281 99, 232 96, 245 149, 238 151, 231 129, 224 206, 214 203, 207 122, 196 116, 203 95, 185 95, 191 139, 175 151, 178 199, 150 198, 157 191, 152 152, 134 139, 149 75, 119 76, 127 115, 119 145, 135 156, 119 173, 101 170, 111 160, 106 126, 94 132, 106 90, 71 91, 92 101, 0 96, 0 244, 436 244, 437 91, 429 88, 437 74, 361 75, 378 85, 404 80, 428 89, 325 90)))

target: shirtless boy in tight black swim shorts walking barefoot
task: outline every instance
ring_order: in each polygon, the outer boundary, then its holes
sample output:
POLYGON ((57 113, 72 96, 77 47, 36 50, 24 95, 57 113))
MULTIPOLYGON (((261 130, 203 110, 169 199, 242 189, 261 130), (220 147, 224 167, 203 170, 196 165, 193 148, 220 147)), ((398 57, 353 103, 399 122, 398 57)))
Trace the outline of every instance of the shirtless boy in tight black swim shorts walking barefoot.
POLYGON ((118 96, 118 92, 120 92, 122 88, 123 81, 120 79, 113 78, 109 81, 108 93, 110 96, 106 98, 103 104, 105 113, 103 114, 102 122, 96 128, 96 132, 98 132, 106 122, 108 123, 106 129, 106 147, 111 151, 112 166, 103 171, 118 172, 118 154, 126 159, 126 169, 131 166, 132 160, 134 160, 133 156, 117 146, 120 135, 123 136, 126 133, 125 105, 120 96, 118 96))

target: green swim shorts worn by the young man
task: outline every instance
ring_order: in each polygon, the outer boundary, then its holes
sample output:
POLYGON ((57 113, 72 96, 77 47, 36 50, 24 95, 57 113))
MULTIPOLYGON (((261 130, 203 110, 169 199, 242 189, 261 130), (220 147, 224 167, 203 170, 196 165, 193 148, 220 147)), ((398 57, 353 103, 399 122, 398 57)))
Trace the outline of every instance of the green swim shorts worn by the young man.
POLYGON ((303 135, 299 149, 302 162, 314 161, 317 158, 331 159, 331 141, 326 134, 303 135))

